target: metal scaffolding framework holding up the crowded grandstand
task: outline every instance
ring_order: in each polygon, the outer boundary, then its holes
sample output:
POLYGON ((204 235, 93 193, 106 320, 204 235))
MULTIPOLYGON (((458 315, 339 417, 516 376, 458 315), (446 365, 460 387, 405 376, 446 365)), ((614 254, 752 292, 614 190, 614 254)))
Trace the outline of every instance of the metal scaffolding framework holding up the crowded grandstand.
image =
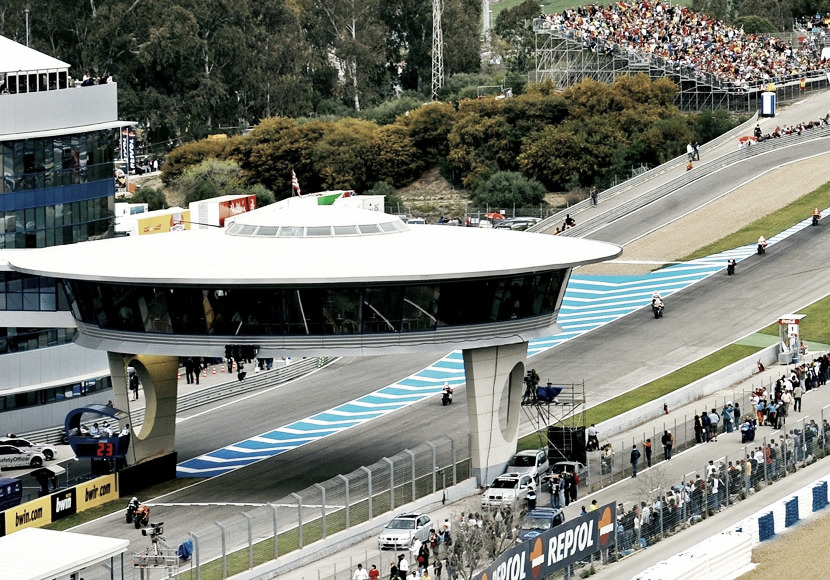
MULTIPOLYGON (((531 81, 550 81, 558 90, 585 79, 612 83, 619 76, 644 74, 652 80, 666 77, 674 82, 679 92, 675 105, 683 111, 726 109, 733 112, 751 112, 760 108, 761 95, 768 89, 766 82, 736 87, 706 71, 679 66, 659 56, 622 49, 616 44, 598 40, 586 44, 544 18, 533 21, 535 33, 536 70, 531 81)), ((805 92, 828 87, 825 71, 792 75, 776 79, 775 90, 779 102, 804 96, 805 92), (801 78, 807 88, 800 87, 801 78)))

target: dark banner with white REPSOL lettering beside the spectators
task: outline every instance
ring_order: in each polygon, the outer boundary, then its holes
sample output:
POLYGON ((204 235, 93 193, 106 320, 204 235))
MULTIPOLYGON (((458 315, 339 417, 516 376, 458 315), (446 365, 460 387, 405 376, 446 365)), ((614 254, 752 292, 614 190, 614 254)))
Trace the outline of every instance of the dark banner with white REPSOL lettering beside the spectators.
POLYGON ((511 548, 473 578, 546 578, 599 550, 611 547, 616 521, 616 505, 609 503, 511 548))

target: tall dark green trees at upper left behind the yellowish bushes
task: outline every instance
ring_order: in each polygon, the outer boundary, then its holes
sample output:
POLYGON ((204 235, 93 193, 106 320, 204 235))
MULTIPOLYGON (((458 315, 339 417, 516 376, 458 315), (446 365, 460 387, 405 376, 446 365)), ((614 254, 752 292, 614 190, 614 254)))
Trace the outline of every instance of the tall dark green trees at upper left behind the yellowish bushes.
MULTIPOLYGON (((173 144, 346 114, 431 83, 431 0, 5 0, 0 35, 112 75, 119 113, 173 144)), ((444 0, 448 76, 479 72, 480 0, 444 0)))

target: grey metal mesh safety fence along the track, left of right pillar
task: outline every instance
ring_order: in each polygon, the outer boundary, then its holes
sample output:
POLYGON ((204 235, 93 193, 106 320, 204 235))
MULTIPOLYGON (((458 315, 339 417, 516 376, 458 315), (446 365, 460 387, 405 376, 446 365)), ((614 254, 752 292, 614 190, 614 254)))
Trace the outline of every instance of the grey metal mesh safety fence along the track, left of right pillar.
MULTIPOLYGON (((368 467, 338 475, 194 529, 191 560, 179 578, 228 578, 325 540, 470 477, 470 440, 449 437, 406 449, 368 467)), ((379 561, 380 552, 365 561, 379 561)), ((333 572, 336 577, 336 571, 333 572)))

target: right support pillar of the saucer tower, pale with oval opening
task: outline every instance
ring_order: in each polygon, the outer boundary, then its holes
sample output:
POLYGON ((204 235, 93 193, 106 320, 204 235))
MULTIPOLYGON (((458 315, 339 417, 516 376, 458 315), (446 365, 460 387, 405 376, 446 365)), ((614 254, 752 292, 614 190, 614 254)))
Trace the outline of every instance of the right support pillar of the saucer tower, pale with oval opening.
POLYGON ((465 349, 463 354, 472 471, 478 484, 486 486, 516 453, 527 343, 465 349), (499 407, 505 400, 507 417, 502 424, 499 407))

